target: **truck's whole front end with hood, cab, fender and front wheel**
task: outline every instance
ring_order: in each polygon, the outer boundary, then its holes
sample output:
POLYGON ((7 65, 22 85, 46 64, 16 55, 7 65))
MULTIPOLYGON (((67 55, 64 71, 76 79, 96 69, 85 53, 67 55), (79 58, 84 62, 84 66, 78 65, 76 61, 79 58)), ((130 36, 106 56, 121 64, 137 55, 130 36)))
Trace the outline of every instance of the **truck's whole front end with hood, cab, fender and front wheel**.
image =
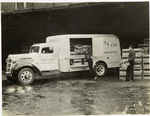
POLYGON ((10 81, 18 81, 22 85, 33 82, 35 73, 58 69, 57 49, 49 43, 34 44, 27 54, 9 55, 6 59, 6 77, 10 81))

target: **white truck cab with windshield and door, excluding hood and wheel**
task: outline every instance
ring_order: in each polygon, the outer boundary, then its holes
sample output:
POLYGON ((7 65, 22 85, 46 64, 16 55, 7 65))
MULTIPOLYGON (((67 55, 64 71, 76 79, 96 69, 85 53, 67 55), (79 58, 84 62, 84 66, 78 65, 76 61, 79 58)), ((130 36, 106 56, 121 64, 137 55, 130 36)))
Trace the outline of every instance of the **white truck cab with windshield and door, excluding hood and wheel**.
POLYGON ((58 69, 58 54, 57 48, 54 44, 35 44, 31 46, 29 53, 32 54, 34 52, 39 54, 39 56, 35 59, 36 63, 34 65, 37 66, 41 72, 58 69))

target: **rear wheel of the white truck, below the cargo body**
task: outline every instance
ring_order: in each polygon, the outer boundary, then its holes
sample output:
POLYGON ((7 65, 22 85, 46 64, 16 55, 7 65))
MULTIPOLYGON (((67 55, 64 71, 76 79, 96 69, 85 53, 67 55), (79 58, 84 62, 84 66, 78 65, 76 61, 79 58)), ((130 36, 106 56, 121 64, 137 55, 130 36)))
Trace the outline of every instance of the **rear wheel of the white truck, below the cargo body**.
POLYGON ((107 72, 107 66, 103 62, 99 62, 94 66, 96 77, 103 77, 107 72))

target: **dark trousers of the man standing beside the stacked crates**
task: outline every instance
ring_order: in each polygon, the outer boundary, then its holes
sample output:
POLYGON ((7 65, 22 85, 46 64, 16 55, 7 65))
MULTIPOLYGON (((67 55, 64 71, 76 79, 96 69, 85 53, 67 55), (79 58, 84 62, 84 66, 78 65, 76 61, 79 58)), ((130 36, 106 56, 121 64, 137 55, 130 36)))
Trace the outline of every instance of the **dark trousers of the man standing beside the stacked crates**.
POLYGON ((133 67, 134 67, 134 62, 129 62, 130 65, 127 68, 126 71, 126 81, 132 80, 134 81, 134 72, 133 72, 133 67))

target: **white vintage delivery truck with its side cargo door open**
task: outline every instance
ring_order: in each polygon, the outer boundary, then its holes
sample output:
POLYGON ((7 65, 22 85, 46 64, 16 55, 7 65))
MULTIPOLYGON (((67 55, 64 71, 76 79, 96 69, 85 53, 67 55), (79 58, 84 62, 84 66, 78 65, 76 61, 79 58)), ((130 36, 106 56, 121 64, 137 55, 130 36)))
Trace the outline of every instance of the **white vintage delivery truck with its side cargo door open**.
POLYGON ((121 62, 120 42, 111 34, 68 34, 46 38, 46 43, 34 44, 27 54, 9 55, 6 76, 22 85, 31 84, 35 74, 89 70, 84 49, 91 50, 93 68, 97 77, 108 68, 117 68, 121 62))

